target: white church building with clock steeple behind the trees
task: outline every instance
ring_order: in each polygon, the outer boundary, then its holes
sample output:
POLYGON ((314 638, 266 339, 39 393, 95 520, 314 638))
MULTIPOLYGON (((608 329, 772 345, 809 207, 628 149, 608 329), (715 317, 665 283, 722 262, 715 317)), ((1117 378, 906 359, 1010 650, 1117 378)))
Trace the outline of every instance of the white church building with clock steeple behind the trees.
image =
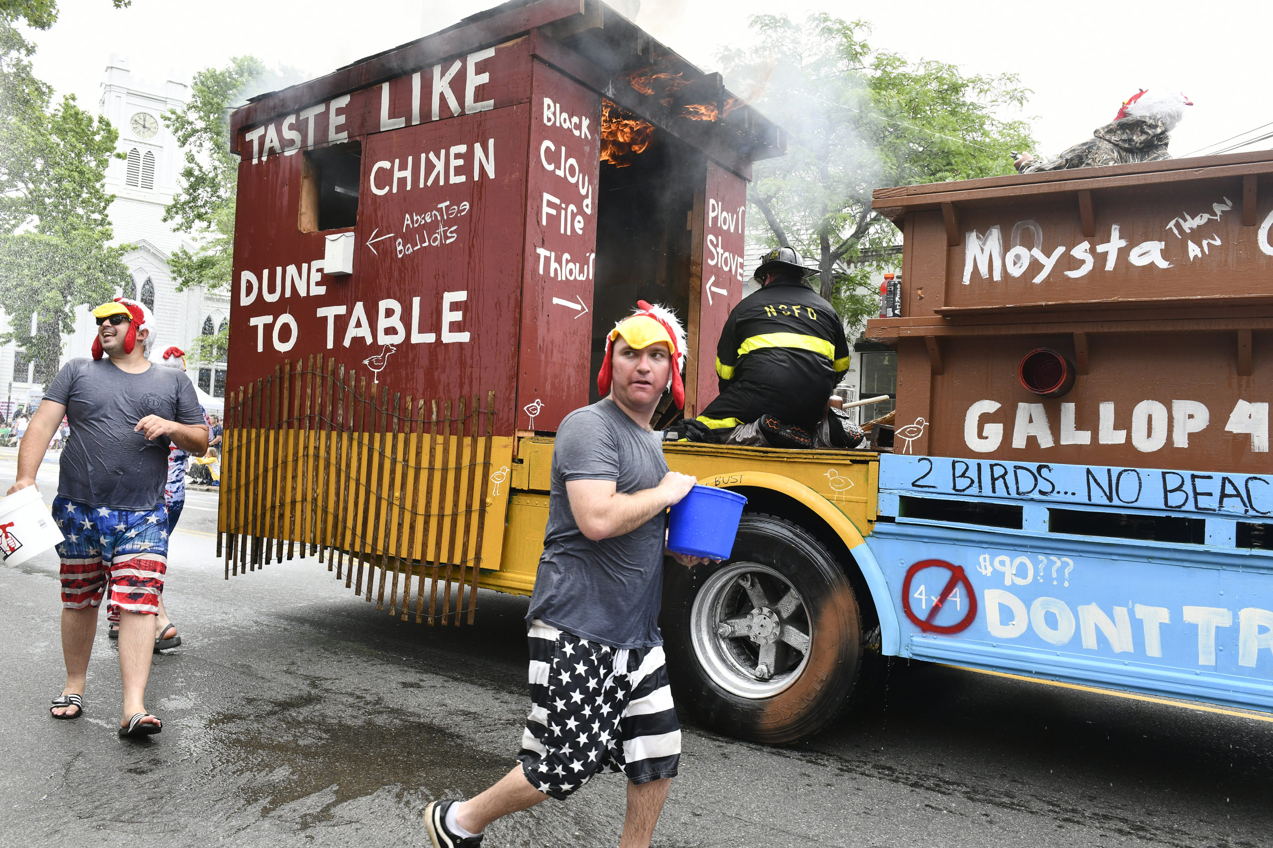
MULTIPOLYGON (((174 74, 169 74, 174 76, 174 74)), ((121 294, 140 300, 154 313, 158 347, 151 356, 176 345, 190 351, 191 339, 210 336, 229 319, 228 294, 209 294, 202 289, 177 291, 168 271, 168 257, 179 247, 193 249, 187 234, 177 233, 163 221, 164 209, 178 189, 185 156, 160 116, 185 106, 188 86, 179 80, 148 83, 132 76, 129 60, 111 56, 102 83, 98 112, 120 131, 118 150, 126 159, 112 159, 106 170, 106 191, 115 195, 111 224, 115 244, 131 244, 123 262, 131 284, 121 294)), ((62 362, 89 356, 97 325, 85 304, 76 318, 75 331, 62 342, 62 362)), ((200 398, 209 412, 224 404, 225 362, 191 365, 191 378, 201 389, 200 398)), ((33 364, 10 342, 0 348, 0 404, 25 406, 38 398, 43 386, 32 383, 33 364)))

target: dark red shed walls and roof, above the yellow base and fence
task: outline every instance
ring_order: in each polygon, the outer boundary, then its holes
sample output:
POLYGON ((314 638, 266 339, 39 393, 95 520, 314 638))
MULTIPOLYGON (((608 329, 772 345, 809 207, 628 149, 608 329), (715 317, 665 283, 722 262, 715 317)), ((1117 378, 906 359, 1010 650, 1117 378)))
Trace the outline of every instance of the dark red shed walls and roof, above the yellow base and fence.
POLYGON ((512 436, 596 397, 638 299, 690 328, 686 414, 712 400, 751 163, 785 140, 605 3, 514 0, 253 98, 232 147, 227 384, 374 359, 391 390, 494 390, 512 436))

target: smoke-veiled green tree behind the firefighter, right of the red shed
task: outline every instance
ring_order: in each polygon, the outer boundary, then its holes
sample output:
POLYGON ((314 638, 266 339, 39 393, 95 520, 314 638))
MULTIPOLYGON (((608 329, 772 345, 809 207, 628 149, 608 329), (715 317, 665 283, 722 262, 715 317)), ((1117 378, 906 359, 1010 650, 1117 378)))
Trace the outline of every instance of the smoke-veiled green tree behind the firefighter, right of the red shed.
POLYGON ((761 216, 752 221, 770 244, 817 263, 821 295, 853 327, 878 313, 864 284, 872 266, 895 262, 889 248, 899 240, 872 211, 871 192, 1012 173, 1011 151, 1034 142, 1025 121, 1001 114, 1029 92, 1013 74, 965 76, 873 50, 861 20, 822 13, 803 24, 785 15, 750 23, 759 44, 724 51, 726 74, 789 139, 788 155, 756 165, 749 198, 761 216))

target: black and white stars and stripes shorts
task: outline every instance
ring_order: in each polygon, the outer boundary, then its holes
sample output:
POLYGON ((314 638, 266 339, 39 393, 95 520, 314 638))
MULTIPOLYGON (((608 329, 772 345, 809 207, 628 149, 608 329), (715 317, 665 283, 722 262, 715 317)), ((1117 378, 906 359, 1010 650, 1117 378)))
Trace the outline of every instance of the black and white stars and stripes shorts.
POLYGON ((676 777, 681 726, 663 648, 614 648, 535 619, 531 715, 517 759, 540 792, 565 798, 608 765, 633 783, 676 777))

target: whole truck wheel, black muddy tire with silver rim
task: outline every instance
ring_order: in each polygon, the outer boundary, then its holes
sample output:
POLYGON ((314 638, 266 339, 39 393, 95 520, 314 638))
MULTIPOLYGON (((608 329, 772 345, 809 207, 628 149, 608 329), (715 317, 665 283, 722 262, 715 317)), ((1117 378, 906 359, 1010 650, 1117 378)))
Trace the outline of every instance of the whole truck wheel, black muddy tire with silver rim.
POLYGON ((756 742, 817 732, 849 703, 862 667, 858 600, 812 535, 746 514, 733 558, 663 580, 663 641, 676 701, 756 742))

